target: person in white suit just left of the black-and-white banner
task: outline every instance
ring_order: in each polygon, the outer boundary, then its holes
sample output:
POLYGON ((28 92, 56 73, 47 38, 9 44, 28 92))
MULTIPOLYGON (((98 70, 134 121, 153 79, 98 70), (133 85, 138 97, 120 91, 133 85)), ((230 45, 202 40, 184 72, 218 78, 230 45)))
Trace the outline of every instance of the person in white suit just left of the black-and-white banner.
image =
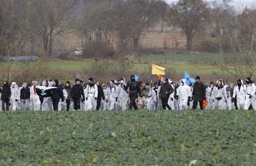
POLYGON ((36 86, 38 85, 39 85, 39 82, 37 80, 33 80, 32 86, 30 88, 30 101, 31 101, 30 109, 34 111, 40 110, 40 105, 41 105, 39 96, 38 94, 36 94, 36 86))

